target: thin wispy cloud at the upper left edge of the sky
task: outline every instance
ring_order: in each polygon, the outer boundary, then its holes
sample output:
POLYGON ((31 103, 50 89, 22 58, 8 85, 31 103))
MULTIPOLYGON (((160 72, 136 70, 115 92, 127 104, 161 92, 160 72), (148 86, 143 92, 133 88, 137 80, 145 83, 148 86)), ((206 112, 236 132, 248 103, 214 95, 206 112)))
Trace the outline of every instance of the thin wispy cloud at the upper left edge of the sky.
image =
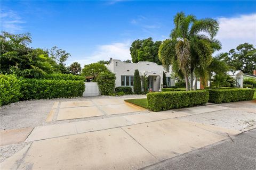
POLYGON ((1 10, 1 31, 17 33, 23 30, 23 23, 25 23, 25 21, 14 11, 1 10))

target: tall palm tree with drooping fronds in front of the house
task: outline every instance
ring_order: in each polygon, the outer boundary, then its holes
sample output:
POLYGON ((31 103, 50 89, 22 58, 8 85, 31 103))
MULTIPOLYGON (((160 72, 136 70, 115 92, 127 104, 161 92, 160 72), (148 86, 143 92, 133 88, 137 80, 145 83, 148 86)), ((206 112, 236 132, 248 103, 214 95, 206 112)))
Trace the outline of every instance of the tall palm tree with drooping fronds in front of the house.
POLYGON ((205 80, 212 53, 221 48, 220 42, 213 38, 217 35, 219 24, 214 19, 197 20, 194 15, 186 16, 179 12, 174 16, 174 25, 170 39, 163 41, 159 47, 159 60, 166 71, 172 65, 176 74, 183 74, 187 90, 190 75, 192 90, 194 74, 196 79, 200 77, 205 80))

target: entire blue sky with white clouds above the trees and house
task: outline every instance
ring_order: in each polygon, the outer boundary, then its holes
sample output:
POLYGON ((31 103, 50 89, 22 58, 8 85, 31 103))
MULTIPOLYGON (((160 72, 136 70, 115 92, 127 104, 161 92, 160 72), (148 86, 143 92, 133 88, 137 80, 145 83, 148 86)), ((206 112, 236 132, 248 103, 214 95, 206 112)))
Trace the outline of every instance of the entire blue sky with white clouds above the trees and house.
POLYGON ((1 31, 30 32, 32 47, 58 46, 83 66, 131 59, 133 40, 168 38, 180 11, 218 20, 221 52, 256 45, 255 1, 1 1, 1 31))

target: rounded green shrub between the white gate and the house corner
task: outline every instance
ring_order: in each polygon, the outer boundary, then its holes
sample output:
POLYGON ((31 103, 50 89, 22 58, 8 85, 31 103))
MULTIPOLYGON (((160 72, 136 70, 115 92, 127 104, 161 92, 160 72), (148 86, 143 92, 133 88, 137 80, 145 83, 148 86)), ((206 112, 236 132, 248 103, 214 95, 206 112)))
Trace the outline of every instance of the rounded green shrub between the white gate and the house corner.
POLYGON ((101 95, 111 95, 114 92, 116 76, 110 71, 99 73, 96 81, 101 92, 101 95))

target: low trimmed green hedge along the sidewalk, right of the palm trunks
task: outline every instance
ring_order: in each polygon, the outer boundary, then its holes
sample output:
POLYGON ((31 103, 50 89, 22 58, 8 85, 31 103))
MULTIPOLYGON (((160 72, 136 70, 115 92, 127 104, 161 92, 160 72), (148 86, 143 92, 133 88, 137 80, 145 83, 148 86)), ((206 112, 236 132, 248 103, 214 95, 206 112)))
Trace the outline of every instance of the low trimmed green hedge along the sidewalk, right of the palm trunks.
POLYGON ((211 103, 227 103, 235 101, 252 100, 254 90, 253 89, 207 89, 211 103))

